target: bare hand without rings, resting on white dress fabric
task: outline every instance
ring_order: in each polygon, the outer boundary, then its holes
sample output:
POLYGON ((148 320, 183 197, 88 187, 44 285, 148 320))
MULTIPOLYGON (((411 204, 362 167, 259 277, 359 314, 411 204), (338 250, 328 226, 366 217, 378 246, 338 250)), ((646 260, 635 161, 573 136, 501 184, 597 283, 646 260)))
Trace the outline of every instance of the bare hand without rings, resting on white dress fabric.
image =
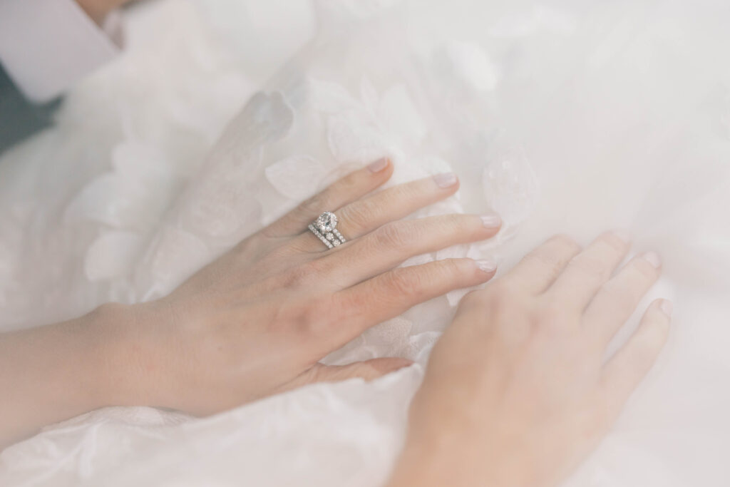
POLYGON ((657 279, 646 253, 605 234, 580 252, 556 237, 467 295, 411 408, 391 487, 552 486, 607 432, 664 345, 671 305, 653 302, 615 356, 607 343, 657 279))

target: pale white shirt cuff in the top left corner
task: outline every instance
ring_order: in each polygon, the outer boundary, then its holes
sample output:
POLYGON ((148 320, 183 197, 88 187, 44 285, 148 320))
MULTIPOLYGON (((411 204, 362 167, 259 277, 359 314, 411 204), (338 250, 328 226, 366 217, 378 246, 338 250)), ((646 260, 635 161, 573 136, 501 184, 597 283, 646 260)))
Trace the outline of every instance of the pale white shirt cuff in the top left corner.
POLYGON ((100 28, 74 0, 0 0, 0 63, 30 101, 49 101, 119 53, 114 14, 100 28))

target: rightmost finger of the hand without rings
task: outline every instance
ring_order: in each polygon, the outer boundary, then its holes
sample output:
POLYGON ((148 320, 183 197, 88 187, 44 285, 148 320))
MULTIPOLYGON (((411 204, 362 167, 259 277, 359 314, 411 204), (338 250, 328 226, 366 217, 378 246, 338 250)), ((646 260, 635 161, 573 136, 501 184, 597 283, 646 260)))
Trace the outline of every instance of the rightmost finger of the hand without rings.
POLYGON ((648 374, 669 335, 672 303, 657 299, 650 304, 639 327, 604 367, 604 396, 618 414, 634 389, 648 374))

